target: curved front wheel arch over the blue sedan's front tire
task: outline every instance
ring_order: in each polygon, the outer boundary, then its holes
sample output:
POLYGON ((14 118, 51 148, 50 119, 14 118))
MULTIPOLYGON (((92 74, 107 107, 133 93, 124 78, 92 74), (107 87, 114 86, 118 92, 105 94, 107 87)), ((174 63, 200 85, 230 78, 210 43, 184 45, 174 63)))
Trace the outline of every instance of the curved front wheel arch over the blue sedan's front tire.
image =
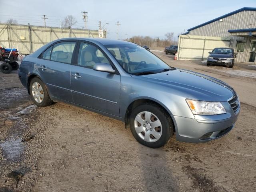
POLYGON ((126 108, 125 116, 124 116, 125 128, 128 129, 130 127, 129 118, 130 118, 132 110, 136 106, 139 106, 141 104, 146 104, 146 103, 154 103, 154 104, 160 106, 161 108, 163 108, 167 112, 167 114, 169 114, 170 118, 172 119, 174 132, 175 132, 175 124, 174 124, 174 120, 172 118, 172 112, 164 104, 162 104, 162 102, 159 102, 158 100, 155 100, 153 98, 137 98, 137 99, 133 100, 128 105, 128 107, 126 108))

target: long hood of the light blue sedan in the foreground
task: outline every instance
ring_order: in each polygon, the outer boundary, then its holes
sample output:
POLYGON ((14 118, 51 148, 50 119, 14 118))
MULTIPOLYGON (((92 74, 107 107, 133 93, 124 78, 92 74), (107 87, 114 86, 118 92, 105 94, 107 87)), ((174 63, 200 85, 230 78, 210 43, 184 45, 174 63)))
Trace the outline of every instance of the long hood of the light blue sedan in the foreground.
POLYGON ((226 102, 234 95, 233 88, 221 80, 189 70, 176 69, 133 77, 166 86, 173 89, 173 93, 195 100, 226 102))

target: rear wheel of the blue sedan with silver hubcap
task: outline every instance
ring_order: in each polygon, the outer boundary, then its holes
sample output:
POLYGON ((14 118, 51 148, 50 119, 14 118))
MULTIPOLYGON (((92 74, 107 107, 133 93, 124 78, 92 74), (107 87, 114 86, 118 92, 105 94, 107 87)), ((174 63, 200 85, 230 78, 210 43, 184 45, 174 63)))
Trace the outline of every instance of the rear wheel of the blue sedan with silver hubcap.
POLYGON ((30 81, 29 91, 30 96, 36 106, 46 107, 53 104, 53 101, 49 96, 48 90, 46 89, 46 86, 44 85, 42 80, 40 80, 40 78, 35 77, 30 81))

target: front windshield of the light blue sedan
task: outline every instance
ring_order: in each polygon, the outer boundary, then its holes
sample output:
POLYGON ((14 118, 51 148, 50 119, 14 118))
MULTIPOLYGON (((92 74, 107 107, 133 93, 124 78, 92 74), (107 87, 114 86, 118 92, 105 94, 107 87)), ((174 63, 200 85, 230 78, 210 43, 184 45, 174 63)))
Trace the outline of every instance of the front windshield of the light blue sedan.
POLYGON ((139 45, 106 45, 122 68, 134 75, 154 74, 174 70, 160 58, 139 45))

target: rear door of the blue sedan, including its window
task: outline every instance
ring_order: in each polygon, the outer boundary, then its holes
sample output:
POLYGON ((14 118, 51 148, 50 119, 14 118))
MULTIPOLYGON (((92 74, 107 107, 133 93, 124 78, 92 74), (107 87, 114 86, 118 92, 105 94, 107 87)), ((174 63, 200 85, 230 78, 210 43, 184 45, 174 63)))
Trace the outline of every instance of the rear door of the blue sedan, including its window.
POLYGON ((72 102, 70 71, 77 41, 62 41, 47 48, 38 59, 38 73, 50 96, 72 102))

